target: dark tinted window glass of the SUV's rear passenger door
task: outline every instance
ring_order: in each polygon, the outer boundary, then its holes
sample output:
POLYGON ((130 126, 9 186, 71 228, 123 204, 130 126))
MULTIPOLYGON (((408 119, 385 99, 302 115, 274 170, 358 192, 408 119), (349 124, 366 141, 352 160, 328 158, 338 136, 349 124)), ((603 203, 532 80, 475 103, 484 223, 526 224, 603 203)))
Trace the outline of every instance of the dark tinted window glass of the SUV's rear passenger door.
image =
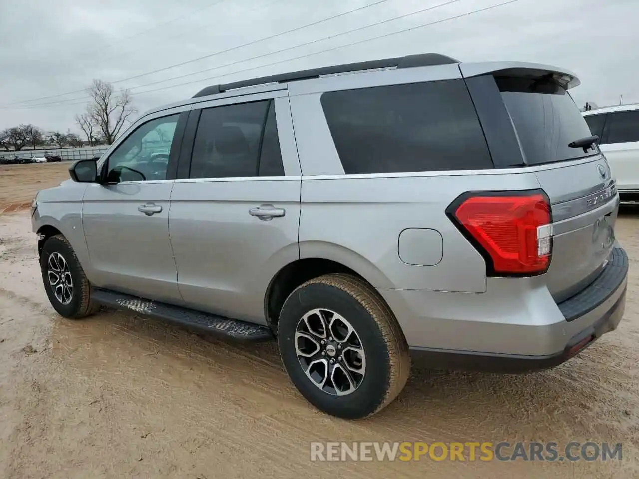
POLYGON ((283 174, 272 100, 202 110, 189 178, 283 174))

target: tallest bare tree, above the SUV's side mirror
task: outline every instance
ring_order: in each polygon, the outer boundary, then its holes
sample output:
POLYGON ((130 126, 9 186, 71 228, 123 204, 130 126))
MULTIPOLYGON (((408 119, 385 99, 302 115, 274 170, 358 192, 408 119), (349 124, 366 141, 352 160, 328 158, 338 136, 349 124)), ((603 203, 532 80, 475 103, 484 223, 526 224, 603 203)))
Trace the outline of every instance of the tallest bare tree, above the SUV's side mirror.
POLYGON ((89 96, 92 100, 88 112, 93 124, 110 145, 118 137, 125 123, 130 121, 130 117, 137 113, 132 105, 131 94, 128 90, 116 92, 112 84, 93 80, 89 87, 89 96))

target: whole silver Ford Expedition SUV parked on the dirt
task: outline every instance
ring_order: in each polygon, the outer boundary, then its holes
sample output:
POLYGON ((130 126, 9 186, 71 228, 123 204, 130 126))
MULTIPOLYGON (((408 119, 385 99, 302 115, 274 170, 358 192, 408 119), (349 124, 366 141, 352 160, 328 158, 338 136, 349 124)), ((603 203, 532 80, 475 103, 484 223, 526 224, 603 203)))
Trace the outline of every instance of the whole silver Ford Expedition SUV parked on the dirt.
POLYGON ((277 338, 343 418, 392 402, 411 356, 553 367, 615 329, 626 293, 578 83, 424 54, 207 87, 37 195, 45 289, 72 319, 277 338))

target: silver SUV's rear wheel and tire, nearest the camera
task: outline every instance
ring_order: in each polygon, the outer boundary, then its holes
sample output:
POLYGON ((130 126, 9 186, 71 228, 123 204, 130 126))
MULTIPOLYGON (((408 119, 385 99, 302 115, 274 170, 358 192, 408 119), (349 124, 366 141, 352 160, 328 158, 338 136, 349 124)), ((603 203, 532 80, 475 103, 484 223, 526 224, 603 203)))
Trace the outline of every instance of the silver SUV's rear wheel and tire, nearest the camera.
POLYGON ((297 287, 282 307, 277 342, 295 387, 332 416, 372 416, 388 406, 408 380, 408 344, 394 314, 371 285, 351 275, 325 275, 297 287), (321 323, 326 325, 325 344, 321 323), (362 349, 363 355, 358 353, 362 349), (336 370, 334 382, 323 379, 331 370, 336 370))

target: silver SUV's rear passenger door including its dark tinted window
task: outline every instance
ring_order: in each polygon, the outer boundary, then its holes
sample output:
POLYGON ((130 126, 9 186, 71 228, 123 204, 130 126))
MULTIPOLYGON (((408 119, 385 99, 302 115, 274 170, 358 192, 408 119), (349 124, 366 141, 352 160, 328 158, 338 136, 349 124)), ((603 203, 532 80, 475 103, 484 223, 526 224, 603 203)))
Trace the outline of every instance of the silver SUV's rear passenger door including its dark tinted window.
POLYGON ((263 324, 270 280, 299 258, 300 165, 286 91, 237 102, 192 110, 169 229, 187 305, 263 324))

